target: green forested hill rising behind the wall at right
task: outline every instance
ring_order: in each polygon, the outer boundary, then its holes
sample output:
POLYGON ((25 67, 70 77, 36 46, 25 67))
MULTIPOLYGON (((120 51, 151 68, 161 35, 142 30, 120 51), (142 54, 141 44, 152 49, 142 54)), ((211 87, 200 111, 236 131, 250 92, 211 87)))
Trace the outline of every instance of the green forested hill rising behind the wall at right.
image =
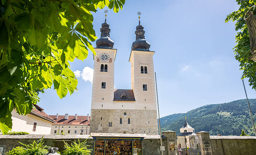
MULTIPOLYGON (((253 120, 256 121, 256 99, 249 99, 249 103, 253 120)), ((172 130, 179 134, 180 128, 184 125, 185 116, 195 132, 208 131, 210 135, 217 135, 219 131, 222 135, 239 136, 244 129, 247 134, 255 136, 246 99, 206 105, 187 113, 162 117, 160 118, 161 131, 172 130)))

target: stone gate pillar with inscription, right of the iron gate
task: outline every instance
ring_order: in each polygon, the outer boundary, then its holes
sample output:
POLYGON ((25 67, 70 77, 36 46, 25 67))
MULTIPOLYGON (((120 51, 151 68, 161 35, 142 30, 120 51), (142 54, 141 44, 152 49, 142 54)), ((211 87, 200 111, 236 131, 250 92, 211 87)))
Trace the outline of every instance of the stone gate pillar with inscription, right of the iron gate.
POLYGON ((209 132, 201 131, 196 134, 199 137, 202 155, 213 155, 209 132))

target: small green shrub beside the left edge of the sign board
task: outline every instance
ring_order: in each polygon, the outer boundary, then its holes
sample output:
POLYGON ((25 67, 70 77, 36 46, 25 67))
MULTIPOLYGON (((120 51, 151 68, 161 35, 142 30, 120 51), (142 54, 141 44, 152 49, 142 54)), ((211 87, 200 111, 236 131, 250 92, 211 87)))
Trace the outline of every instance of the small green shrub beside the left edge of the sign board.
POLYGON ((87 145, 86 140, 80 143, 78 139, 78 143, 76 143, 76 141, 74 141, 73 143, 74 144, 71 144, 70 146, 64 141, 64 155, 89 155, 91 153, 91 150, 87 149, 87 147, 90 145, 87 145))

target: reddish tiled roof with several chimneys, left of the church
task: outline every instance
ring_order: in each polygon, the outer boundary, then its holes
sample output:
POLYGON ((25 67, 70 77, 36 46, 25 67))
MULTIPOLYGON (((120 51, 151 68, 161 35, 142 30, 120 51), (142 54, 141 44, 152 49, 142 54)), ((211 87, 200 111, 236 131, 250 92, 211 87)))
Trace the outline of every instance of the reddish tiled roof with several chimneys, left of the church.
POLYGON ((75 119, 75 116, 68 116, 68 119, 64 119, 64 115, 58 115, 58 119, 56 119, 56 115, 50 115, 52 119, 56 123, 52 123, 52 125, 60 125, 60 124, 67 124, 67 125, 90 125, 90 116, 87 120, 87 116, 77 116, 75 119))

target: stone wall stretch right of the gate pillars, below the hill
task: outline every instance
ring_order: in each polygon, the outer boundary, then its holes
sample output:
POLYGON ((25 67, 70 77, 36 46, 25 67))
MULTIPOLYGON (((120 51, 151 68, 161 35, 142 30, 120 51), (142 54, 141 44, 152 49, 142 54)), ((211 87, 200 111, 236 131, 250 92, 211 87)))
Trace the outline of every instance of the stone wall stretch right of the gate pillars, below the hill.
POLYGON ((255 136, 210 136, 213 155, 255 155, 255 136))

